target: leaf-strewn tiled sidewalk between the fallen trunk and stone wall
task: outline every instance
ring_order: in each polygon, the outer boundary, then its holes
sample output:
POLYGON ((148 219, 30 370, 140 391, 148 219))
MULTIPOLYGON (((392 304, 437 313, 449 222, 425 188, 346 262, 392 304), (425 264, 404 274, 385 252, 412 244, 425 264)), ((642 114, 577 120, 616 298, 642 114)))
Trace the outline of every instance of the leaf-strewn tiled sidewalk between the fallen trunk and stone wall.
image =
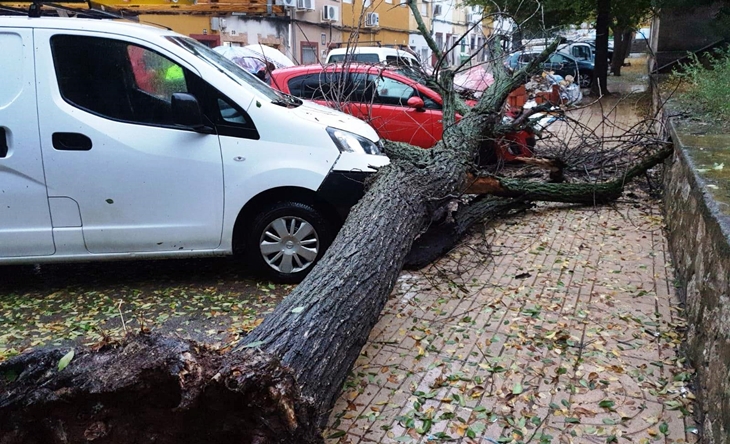
POLYGON ((543 204, 404 272, 334 443, 695 442, 658 202, 543 204))

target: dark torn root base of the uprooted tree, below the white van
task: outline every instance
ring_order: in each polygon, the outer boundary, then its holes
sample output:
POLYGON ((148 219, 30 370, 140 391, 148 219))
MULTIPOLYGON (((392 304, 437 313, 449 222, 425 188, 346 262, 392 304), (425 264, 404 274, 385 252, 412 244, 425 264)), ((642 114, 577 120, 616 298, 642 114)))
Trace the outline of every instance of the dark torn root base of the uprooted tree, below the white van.
POLYGON ((290 370, 243 349, 129 336, 101 350, 39 350, 0 365, 0 443, 318 443, 290 370), (10 383, 9 379, 14 379, 10 383))

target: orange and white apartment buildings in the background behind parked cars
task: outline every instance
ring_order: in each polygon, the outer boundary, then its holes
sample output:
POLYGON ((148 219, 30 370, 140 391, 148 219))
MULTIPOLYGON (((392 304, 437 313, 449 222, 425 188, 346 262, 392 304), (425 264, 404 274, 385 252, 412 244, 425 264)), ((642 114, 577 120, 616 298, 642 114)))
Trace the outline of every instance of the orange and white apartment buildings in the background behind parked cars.
MULTIPOLYGON (((99 0, 215 47, 262 44, 298 64, 321 62, 347 45, 409 48, 424 66, 436 58, 407 0, 99 0)), ((457 64, 480 52, 490 24, 462 0, 413 0, 436 44, 457 64)), ((478 54, 475 60, 483 60, 478 54)))

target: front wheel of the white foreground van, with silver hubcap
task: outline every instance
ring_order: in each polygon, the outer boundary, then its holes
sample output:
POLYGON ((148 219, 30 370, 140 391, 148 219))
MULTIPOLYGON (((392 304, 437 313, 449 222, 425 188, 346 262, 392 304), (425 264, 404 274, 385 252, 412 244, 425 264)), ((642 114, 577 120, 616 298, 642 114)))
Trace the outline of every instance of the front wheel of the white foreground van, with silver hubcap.
POLYGON ((300 282, 330 246, 334 225, 314 207, 279 202, 264 208, 246 233, 249 263, 272 280, 300 282))

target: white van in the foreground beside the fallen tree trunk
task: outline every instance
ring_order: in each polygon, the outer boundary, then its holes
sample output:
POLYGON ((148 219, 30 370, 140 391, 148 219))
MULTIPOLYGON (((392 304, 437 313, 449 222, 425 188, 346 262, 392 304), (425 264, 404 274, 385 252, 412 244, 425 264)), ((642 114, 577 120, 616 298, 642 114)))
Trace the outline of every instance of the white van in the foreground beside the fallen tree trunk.
POLYGON ((182 35, 0 17, 0 265, 244 256, 301 279, 377 133, 182 35))

